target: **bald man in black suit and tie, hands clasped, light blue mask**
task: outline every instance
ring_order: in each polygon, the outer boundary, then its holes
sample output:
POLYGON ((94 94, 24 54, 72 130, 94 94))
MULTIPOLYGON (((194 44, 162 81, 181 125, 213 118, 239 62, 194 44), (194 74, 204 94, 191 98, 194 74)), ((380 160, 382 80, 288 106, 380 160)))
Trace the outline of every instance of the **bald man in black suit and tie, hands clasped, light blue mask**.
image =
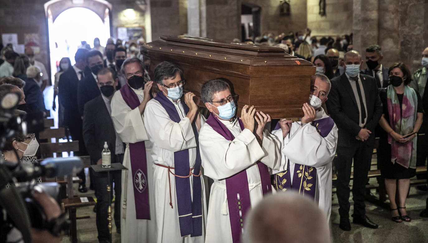
POLYGON ((345 73, 331 80, 327 109, 337 125, 338 147, 336 158, 337 198, 339 200, 340 228, 351 230, 349 222, 349 182, 351 165, 354 160, 354 223, 369 228, 377 228, 366 216, 364 204, 367 173, 372 161, 375 144, 375 127, 382 115, 375 79, 360 74, 360 53, 349 51, 345 54, 345 73))

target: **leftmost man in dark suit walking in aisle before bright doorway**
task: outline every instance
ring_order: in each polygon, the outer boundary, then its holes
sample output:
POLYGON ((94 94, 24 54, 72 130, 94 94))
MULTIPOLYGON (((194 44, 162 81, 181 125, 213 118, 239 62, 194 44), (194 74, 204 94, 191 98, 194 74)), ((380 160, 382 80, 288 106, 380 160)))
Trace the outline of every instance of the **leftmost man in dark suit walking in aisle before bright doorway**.
MULTIPOLYGON (((75 156, 87 155, 86 147, 83 143, 82 118, 80 117, 77 105, 77 83, 79 80, 83 79, 85 75, 90 74, 86 70, 86 53, 88 52, 89 50, 87 49, 77 49, 76 55, 74 56, 76 64, 59 76, 58 83, 58 99, 64 107, 64 125, 70 130, 71 138, 75 141, 79 141, 79 152, 75 152, 75 156)), ((82 170, 77 176, 82 179, 82 183, 79 184, 78 190, 84 193, 87 191, 84 171, 82 170)))

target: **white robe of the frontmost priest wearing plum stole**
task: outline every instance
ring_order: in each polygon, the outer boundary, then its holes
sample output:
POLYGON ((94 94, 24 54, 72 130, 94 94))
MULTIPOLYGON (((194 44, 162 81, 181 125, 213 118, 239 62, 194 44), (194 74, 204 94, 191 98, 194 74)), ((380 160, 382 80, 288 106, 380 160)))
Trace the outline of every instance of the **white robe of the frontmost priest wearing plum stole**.
POLYGON ((199 132, 199 147, 202 167, 205 176, 214 179, 209 198, 206 243, 232 242, 229 208, 226 196, 226 178, 247 171, 248 187, 250 190, 251 206, 254 207, 263 198, 259 168, 256 164, 261 161, 269 168, 278 169, 280 165, 279 141, 264 132, 262 147, 256 136, 248 129, 241 132, 238 119, 233 122, 220 120, 235 139, 226 140, 214 131, 208 123, 199 132))

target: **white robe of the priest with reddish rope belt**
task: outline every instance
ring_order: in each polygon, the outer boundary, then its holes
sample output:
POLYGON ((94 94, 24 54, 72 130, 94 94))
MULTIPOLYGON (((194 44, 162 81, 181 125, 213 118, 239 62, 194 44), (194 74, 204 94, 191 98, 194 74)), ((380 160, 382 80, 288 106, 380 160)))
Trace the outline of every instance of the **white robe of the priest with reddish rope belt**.
MULTIPOLYGON (((175 191, 175 176, 168 175, 168 169, 155 164, 162 164, 169 167, 174 166, 174 152, 188 149, 190 168, 194 167, 196 160, 196 140, 193 133, 192 124, 184 113, 183 105, 171 101, 178 112, 181 120, 176 123, 169 118, 165 108, 155 99, 147 102, 144 111, 144 124, 146 125, 149 139, 153 142, 152 161, 153 166, 153 185, 155 187, 155 210, 156 210, 156 228, 158 231, 158 243, 187 243, 205 241, 205 225, 207 217, 205 186, 201 176, 196 177, 201 180, 202 187, 202 235, 190 237, 190 235, 181 237, 180 225, 178 223, 177 196, 175 191), (168 180, 169 176, 169 180, 168 180), (169 182, 171 187, 169 187, 169 182), (169 190, 171 189, 172 206, 169 205, 169 190)), ((201 116, 202 118, 202 116, 201 116)), ((195 118, 196 119, 196 118, 195 118)), ((202 125, 202 124, 201 124, 202 125)), ((171 169, 172 173, 175 170, 171 169)), ((193 176, 190 176, 190 192, 193 199, 193 176)))

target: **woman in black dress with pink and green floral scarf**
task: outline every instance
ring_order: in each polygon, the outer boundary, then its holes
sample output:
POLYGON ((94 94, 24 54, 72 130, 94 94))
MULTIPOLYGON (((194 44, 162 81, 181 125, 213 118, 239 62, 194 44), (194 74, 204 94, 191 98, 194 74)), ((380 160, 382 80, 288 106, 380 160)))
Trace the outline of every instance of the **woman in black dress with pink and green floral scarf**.
POLYGON ((406 198, 410 178, 416 175, 416 139, 422 124, 422 101, 420 95, 407 86, 411 74, 406 65, 395 63, 388 72, 389 86, 379 92, 383 103, 379 124, 383 131, 380 132, 377 161, 380 174, 385 178, 392 221, 410 222, 406 198))

